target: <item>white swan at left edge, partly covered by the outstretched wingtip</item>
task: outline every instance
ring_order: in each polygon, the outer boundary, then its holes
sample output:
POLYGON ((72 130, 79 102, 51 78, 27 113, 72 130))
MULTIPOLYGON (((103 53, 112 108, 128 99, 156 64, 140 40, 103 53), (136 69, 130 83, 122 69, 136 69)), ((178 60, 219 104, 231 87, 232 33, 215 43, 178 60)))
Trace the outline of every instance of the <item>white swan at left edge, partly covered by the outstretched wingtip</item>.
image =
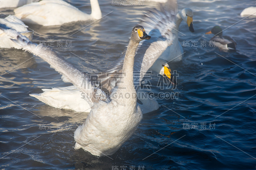
MULTIPOLYGON (((20 19, 16 18, 13 15, 9 15, 5 18, 0 18, 0 24, 4 24, 12 29, 15 29, 22 35, 28 37, 30 41, 33 38, 33 31, 28 31, 28 26, 26 26, 20 19)), ((10 40, 9 36, 6 35, 2 30, 0 30, 0 48, 21 49, 21 47, 17 43, 10 40)))

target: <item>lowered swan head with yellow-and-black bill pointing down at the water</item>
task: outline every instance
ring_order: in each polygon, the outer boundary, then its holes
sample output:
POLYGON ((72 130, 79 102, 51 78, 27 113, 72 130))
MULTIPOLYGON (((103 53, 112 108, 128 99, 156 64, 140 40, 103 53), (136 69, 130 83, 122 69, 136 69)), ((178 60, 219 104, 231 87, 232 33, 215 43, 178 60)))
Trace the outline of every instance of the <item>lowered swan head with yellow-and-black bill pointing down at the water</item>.
POLYGON ((172 85, 177 85, 177 82, 171 73, 170 66, 165 60, 158 58, 151 67, 151 70, 156 71, 158 74, 165 77, 172 83, 172 85))

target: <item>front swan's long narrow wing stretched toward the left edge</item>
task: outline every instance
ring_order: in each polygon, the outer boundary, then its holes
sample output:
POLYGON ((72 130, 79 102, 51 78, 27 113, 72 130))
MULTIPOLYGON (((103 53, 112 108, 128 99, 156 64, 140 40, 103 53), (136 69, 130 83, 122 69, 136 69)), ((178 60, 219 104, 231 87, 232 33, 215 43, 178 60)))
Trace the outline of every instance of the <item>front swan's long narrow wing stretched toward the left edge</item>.
POLYGON ((89 103, 90 107, 94 102, 106 100, 106 94, 99 88, 92 85, 87 74, 82 73, 75 66, 60 57, 52 49, 29 41, 27 37, 22 36, 16 30, 6 27, 5 25, 0 24, 0 29, 2 29, 4 33, 10 36, 10 38, 19 44, 24 50, 39 56, 44 61, 49 63, 52 68, 62 75, 61 78, 64 82, 72 83, 77 89, 86 94, 87 97, 85 100, 89 103))

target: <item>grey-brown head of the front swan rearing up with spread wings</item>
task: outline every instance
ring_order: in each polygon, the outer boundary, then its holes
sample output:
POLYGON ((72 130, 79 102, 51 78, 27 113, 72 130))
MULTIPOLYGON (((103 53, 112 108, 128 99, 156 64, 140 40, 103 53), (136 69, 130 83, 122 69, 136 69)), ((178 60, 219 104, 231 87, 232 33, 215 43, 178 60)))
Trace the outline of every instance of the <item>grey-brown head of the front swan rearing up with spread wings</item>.
POLYGON ((149 40, 151 37, 146 33, 143 26, 134 26, 132 29, 131 39, 135 42, 149 40))

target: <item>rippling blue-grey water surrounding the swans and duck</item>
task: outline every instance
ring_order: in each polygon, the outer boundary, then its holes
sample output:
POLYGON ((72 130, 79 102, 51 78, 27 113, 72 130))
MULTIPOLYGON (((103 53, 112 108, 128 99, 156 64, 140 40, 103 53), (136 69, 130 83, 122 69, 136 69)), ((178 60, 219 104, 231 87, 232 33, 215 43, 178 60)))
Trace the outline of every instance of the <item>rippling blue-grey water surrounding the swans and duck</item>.
MULTIPOLYGON (((88 1, 68 2, 90 12, 88 1)), ((155 96, 173 92, 176 99, 158 99, 159 110, 144 114, 134 135, 109 157, 74 150, 74 131, 84 122, 85 113, 53 108, 28 95, 70 84, 62 82, 40 58, 30 59, 33 55, 22 50, 1 49, 1 74, 20 64, 0 77, 1 169, 255 169, 256 18, 240 21, 240 12, 255 1, 178 4, 179 9, 194 11, 195 32, 181 23, 179 30, 185 35, 180 33, 179 40, 190 46, 183 48, 181 62, 169 63, 177 72, 177 89, 161 90, 156 74, 151 80, 155 96), (209 47, 212 35, 204 33, 215 25, 231 26, 223 34, 235 39, 236 52, 209 47), (191 47, 192 41, 198 47, 191 47), (206 47, 200 47, 202 41, 207 41, 206 47)), ((53 42, 52 48, 81 70, 104 70, 125 50, 143 11, 158 5, 113 6, 101 0, 100 6, 103 15, 114 12, 72 36, 90 22, 30 26, 40 33, 35 33, 33 41, 53 42), (57 41, 63 47, 57 47, 57 41)), ((12 14, 12 9, 2 12, 12 14)))

